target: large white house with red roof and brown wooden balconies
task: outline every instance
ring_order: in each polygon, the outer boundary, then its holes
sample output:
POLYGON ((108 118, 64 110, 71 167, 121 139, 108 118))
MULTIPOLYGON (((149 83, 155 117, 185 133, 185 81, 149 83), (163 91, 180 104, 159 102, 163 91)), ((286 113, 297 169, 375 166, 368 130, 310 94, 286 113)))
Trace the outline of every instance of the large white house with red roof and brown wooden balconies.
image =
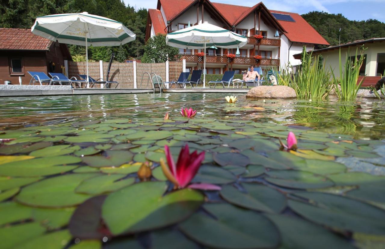
MULTIPOLYGON (((299 14, 268 10, 262 2, 253 7, 214 3, 209 0, 158 0, 157 9, 149 9, 146 40, 157 33, 166 34, 190 25, 209 22, 248 37, 248 43, 239 48, 240 55, 228 60, 227 54, 236 49, 206 49, 208 74, 221 74, 226 70, 245 70, 249 65, 258 65, 268 70, 299 65, 293 55, 318 45, 329 43, 299 14), (254 37, 261 35, 262 38, 254 37), (261 59, 256 60, 254 56, 261 59)), ((186 67, 201 69, 203 61, 198 50, 180 50, 186 67)))

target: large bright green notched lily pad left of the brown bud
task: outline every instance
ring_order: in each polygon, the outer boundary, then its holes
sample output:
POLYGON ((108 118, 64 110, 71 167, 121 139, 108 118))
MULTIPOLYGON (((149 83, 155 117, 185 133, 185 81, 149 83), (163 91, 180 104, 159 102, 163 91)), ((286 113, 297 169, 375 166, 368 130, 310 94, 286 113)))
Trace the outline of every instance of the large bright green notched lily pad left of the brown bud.
POLYGON ((77 194, 75 189, 85 179, 98 173, 68 174, 33 183, 20 191, 16 200, 35 207, 64 208, 75 206, 90 198, 87 194, 77 194))

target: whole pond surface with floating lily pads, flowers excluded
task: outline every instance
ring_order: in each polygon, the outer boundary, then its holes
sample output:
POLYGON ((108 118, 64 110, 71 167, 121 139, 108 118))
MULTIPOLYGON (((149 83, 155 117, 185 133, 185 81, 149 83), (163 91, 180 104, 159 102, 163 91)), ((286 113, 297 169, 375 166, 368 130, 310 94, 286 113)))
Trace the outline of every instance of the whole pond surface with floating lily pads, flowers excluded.
POLYGON ((1 98, 0 248, 382 248, 384 101, 224 96, 1 98), (186 144, 220 191, 166 181, 186 144))

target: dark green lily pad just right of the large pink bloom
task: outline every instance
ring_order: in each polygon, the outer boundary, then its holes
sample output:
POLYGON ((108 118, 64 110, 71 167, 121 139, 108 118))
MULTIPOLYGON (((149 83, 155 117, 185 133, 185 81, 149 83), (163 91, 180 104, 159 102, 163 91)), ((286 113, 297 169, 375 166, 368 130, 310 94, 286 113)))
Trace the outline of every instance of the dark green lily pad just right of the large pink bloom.
POLYGON ((201 166, 198 174, 192 179, 194 183, 226 184, 236 181, 234 174, 226 169, 214 166, 201 166))

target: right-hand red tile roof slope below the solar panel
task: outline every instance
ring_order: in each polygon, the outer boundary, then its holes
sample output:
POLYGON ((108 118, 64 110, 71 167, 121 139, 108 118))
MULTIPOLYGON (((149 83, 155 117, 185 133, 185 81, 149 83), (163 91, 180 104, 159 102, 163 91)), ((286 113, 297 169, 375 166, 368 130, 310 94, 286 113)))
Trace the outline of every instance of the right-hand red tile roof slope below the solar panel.
POLYGON ((295 20, 295 22, 278 20, 282 27, 287 31, 285 35, 290 41, 329 45, 325 38, 323 38, 313 27, 311 27, 311 25, 299 14, 279 10, 270 10, 270 12, 290 15, 295 20))

